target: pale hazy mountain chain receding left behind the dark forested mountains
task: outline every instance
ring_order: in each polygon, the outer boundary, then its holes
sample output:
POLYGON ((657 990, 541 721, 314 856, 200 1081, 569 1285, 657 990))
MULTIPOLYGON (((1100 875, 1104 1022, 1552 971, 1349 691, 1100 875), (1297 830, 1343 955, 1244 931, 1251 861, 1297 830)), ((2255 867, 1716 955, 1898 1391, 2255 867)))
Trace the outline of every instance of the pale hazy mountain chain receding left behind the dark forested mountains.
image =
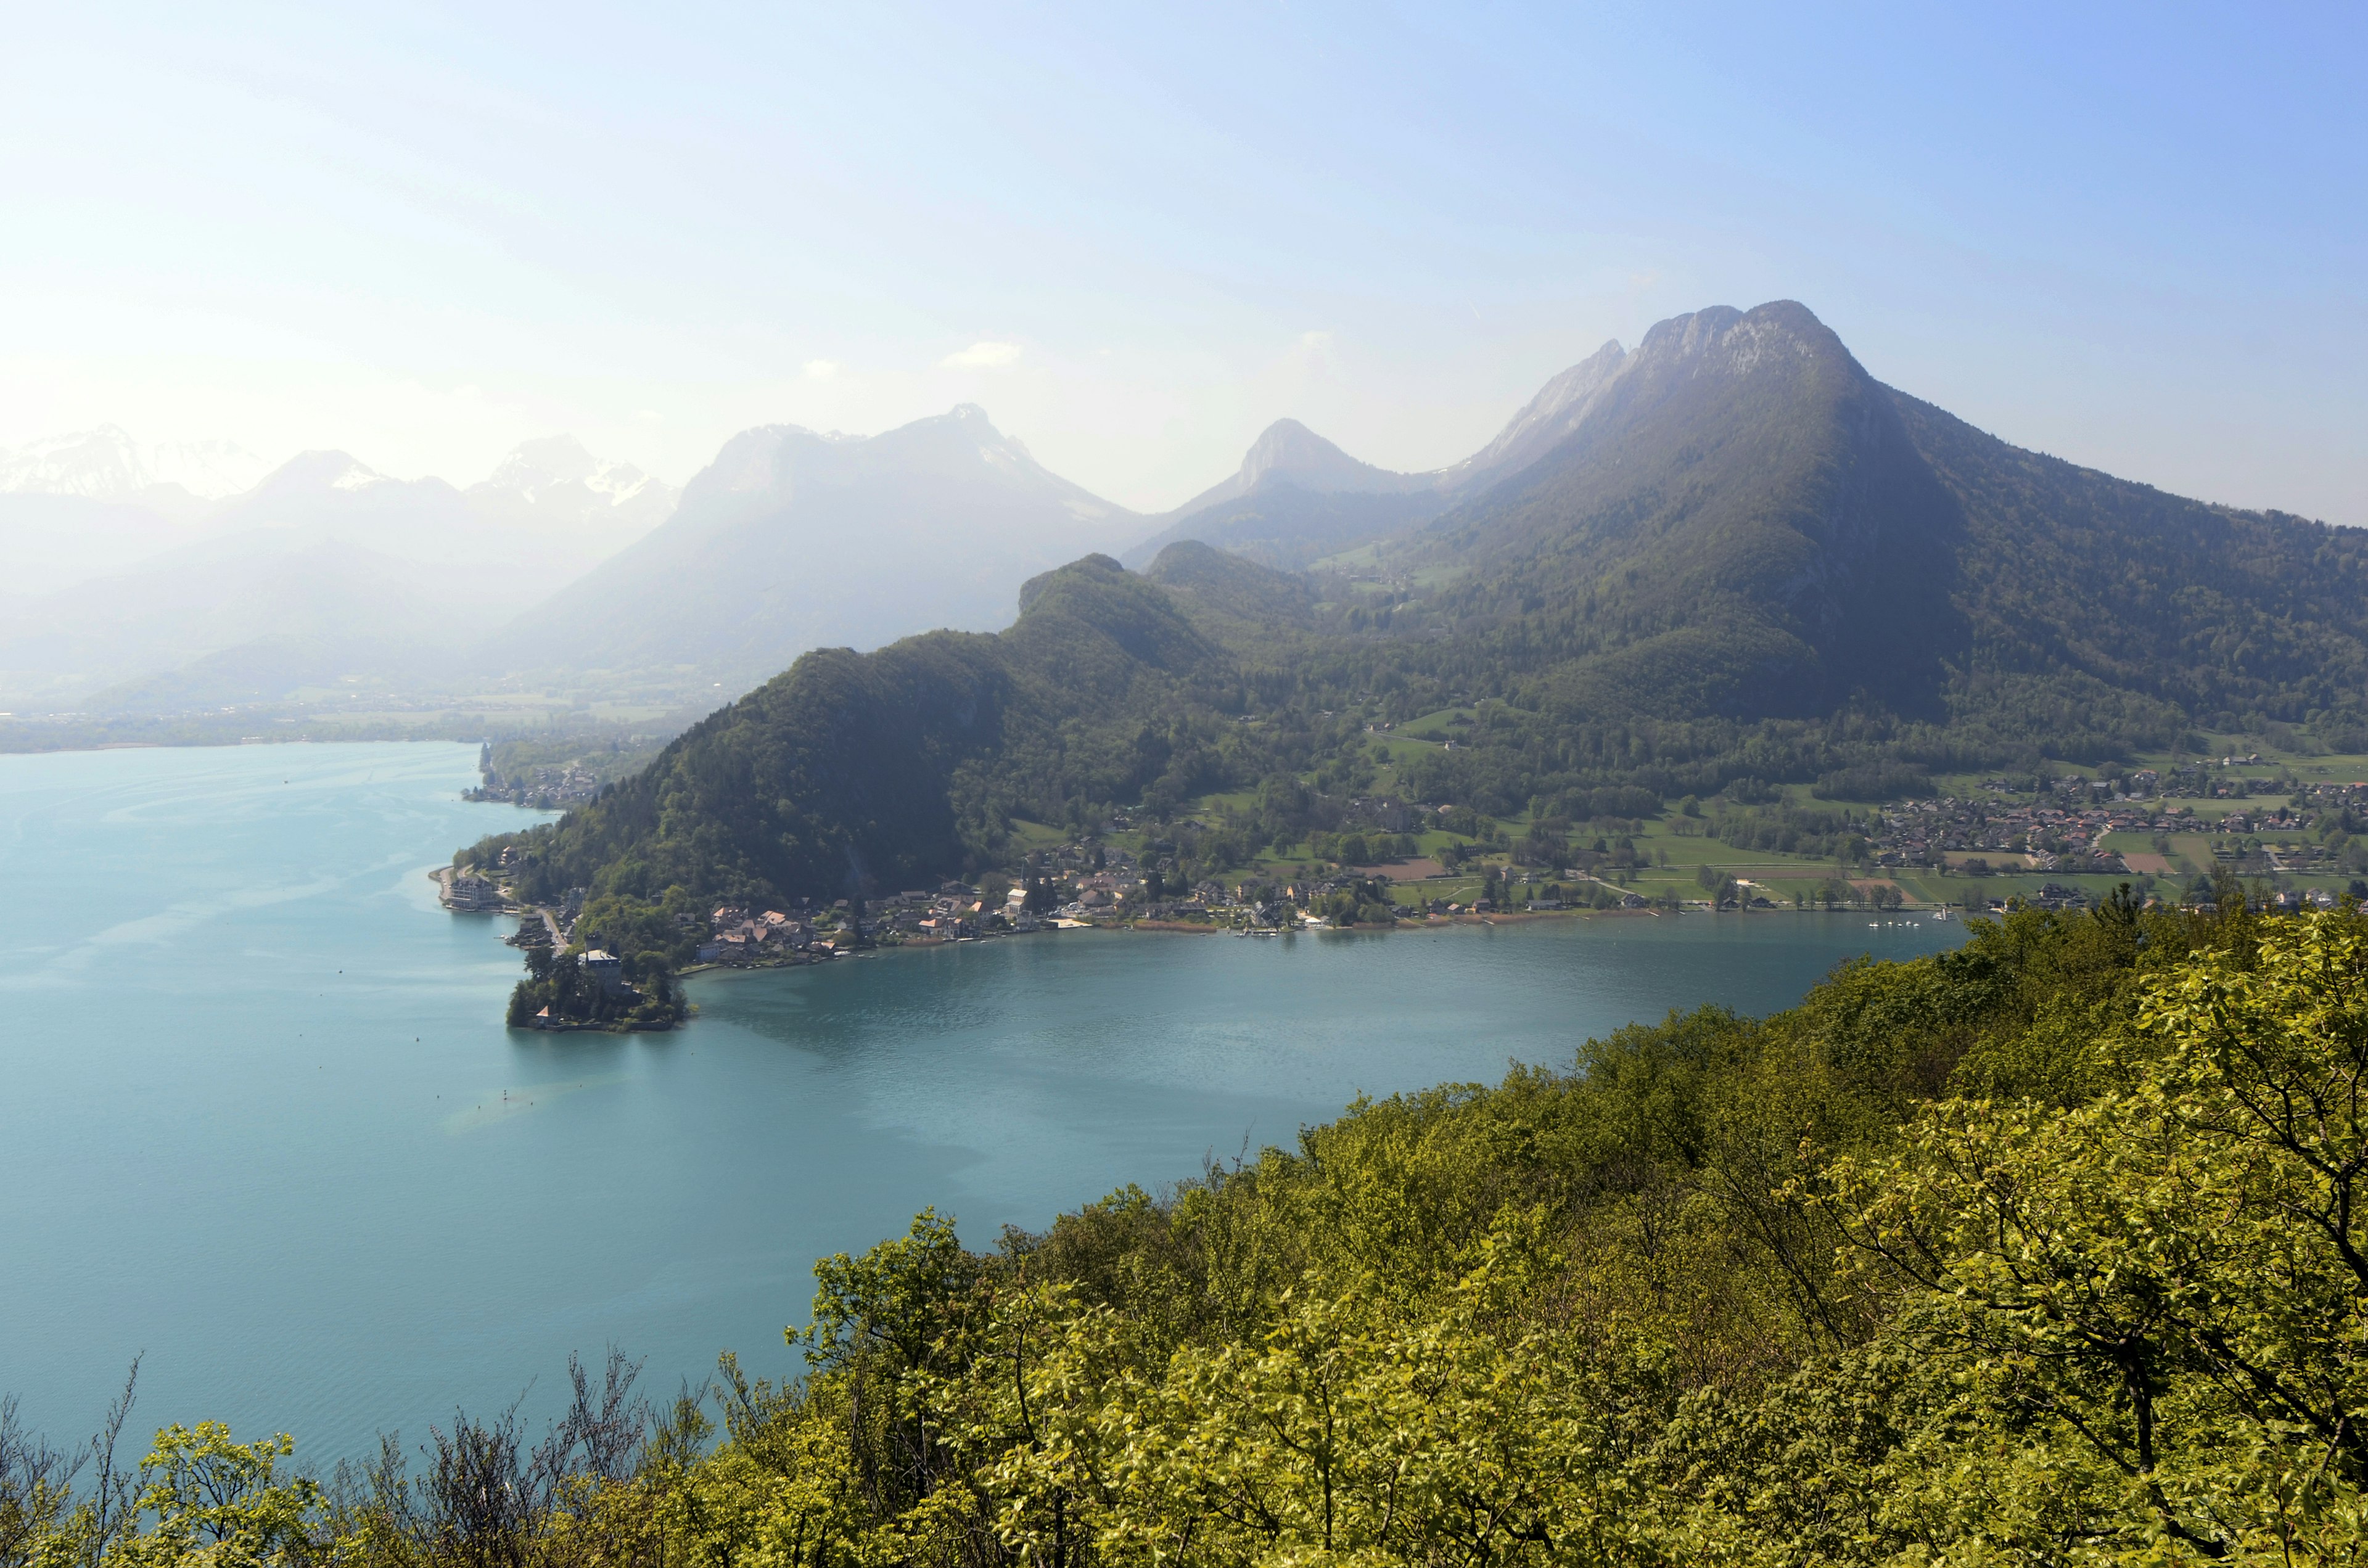
POLYGON ((964 405, 881 436, 760 426, 684 490, 566 436, 483 483, 348 452, 265 471, 227 443, 121 429, 0 452, 0 701, 99 713, 497 685, 746 689, 815 647, 995 630, 1011 587, 1177 538, 1272 566, 1426 523, 1565 433, 1617 346, 1556 377, 1482 452, 1430 474, 1267 429, 1163 516, 1047 471, 964 405))

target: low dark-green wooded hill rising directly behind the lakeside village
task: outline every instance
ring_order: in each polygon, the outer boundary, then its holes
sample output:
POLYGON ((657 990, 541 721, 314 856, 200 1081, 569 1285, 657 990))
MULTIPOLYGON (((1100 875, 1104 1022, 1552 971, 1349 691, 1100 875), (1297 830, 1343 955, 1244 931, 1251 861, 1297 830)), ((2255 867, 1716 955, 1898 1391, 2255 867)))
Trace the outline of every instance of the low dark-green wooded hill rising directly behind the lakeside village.
POLYGON ((526 886, 637 898, 919 886, 990 853, 1014 810, 1134 798, 1177 760, 1170 737, 1193 713, 1241 706, 1231 661, 1108 557, 1030 580, 1021 602, 1002 635, 805 654, 535 836, 526 886))

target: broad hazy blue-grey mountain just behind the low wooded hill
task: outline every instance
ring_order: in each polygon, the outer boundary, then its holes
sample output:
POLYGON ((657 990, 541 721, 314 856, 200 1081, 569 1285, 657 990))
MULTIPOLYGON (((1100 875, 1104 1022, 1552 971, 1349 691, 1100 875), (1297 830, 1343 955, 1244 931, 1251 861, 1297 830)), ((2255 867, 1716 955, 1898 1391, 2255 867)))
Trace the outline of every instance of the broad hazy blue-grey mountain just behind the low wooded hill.
POLYGON ((971 405, 871 438, 762 426, 725 443, 665 526, 521 616, 478 663, 760 677, 812 647, 992 630, 1025 578, 1137 526, 971 405))

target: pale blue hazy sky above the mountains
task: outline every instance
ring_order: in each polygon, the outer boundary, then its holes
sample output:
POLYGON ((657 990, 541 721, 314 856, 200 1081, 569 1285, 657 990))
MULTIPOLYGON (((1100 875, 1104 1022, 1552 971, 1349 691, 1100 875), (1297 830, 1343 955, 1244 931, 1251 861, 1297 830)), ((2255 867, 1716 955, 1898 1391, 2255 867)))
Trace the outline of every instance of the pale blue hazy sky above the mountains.
POLYGON ((19 5, 0 445, 682 481, 976 400, 1153 509, 1793 296, 2010 441, 2368 523, 2363 17, 19 5))

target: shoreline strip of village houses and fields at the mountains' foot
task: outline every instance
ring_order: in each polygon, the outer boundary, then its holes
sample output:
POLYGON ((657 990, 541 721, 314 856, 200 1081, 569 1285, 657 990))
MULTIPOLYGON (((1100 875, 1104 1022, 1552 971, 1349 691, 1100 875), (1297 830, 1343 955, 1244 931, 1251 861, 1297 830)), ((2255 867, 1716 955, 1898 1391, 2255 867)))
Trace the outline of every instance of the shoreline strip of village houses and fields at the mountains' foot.
MULTIPOLYGON (((2340 891, 2368 895, 2368 784, 2231 772, 2259 758, 2112 777, 1980 779, 1963 793, 1857 812, 1745 786, 1740 798, 1681 801, 1655 820, 1584 824, 1508 824, 1468 808, 1357 798, 1343 803, 1345 831, 1307 843, 1317 865, 1262 865, 1198 881, 1182 872, 1186 846, 1163 836, 1189 834, 1196 822, 1137 831, 1118 812, 1106 836, 1040 843, 1011 872, 976 883, 675 914, 673 945, 677 959, 691 959, 684 969, 755 969, 1094 926, 1279 936, 1565 912, 1785 907, 1930 910, 1946 919, 2015 902, 2079 910, 2098 902, 2110 879, 2131 881, 2148 900, 2190 905, 2214 898, 2216 874, 2252 879, 2266 905, 2287 910, 2330 907, 2340 891), (2257 793, 2271 784, 2276 793, 2257 793), (1513 827, 1525 827, 1523 836, 1513 827), (2046 881, 2032 886, 2034 876, 2046 881), (1935 895, 1930 879, 1949 879, 1946 895, 1935 895)), ((687 1016, 673 959, 604 950, 601 933, 578 931, 583 888, 554 905, 519 905, 502 869, 445 867, 438 881, 455 912, 521 919, 507 938, 528 962, 511 1007, 516 1026, 670 1028, 687 1016)))

